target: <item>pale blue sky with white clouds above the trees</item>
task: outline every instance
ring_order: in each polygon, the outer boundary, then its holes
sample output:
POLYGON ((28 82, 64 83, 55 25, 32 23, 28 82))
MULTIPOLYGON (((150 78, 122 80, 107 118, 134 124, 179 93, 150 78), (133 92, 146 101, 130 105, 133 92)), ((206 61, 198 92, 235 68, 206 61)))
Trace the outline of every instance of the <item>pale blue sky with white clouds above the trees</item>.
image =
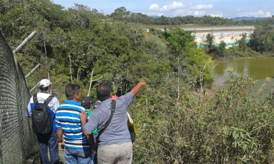
POLYGON ((74 3, 86 5, 103 14, 111 14, 120 7, 127 11, 148 16, 238 16, 271 17, 274 15, 274 0, 52 0, 64 8, 74 3))

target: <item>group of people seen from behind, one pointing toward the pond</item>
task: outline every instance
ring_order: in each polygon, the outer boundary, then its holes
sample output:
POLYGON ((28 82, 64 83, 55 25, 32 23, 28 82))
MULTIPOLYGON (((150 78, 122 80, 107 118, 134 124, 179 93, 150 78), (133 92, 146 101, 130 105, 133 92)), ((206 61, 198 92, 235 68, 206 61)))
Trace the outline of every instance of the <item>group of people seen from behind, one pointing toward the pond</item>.
MULTIPOLYGON (((112 95, 110 85, 101 83, 96 90, 98 101, 93 97, 82 98, 80 85, 67 85, 66 101, 60 105, 58 98, 54 97, 48 104, 53 120, 52 130, 47 134, 36 134, 41 163, 59 163, 58 150, 64 150, 67 164, 132 163, 127 107, 145 84, 145 81, 140 81, 130 92, 116 97, 112 95)), ((35 98, 44 103, 50 93, 51 82, 42 79, 40 92, 35 98)), ((36 105, 34 102, 32 96, 25 112, 29 118, 36 105)))

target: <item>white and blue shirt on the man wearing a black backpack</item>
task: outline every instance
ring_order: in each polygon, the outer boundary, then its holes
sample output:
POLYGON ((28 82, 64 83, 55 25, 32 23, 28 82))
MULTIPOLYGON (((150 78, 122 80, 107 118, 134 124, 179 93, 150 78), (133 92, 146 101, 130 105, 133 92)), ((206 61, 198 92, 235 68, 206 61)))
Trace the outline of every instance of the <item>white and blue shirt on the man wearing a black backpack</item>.
MULTIPOLYGON (((48 93, 44 92, 38 92, 37 94, 37 100, 39 103, 45 102, 47 98, 51 96, 48 93)), ((59 101, 56 97, 53 97, 51 102, 49 102, 49 107, 51 108, 51 118, 53 120, 53 131, 56 131, 56 126, 55 126, 55 113, 57 108, 59 107, 59 101)), ((34 96, 29 99, 29 104, 27 105, 27 109, 25 111, 25 116, 26 117, 32 117, 32 111, 34 110, 34 96)))

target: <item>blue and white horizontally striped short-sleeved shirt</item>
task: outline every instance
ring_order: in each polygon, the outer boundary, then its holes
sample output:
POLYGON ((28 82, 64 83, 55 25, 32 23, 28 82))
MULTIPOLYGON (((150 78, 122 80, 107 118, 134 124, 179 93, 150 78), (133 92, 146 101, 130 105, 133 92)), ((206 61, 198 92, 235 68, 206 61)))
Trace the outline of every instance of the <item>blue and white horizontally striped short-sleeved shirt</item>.
POLYGON ((90 143, 82 133, 81 111, 86 109, 73 100, 66 100, 56 111, 56 128, 62 128, 65 148, 90 149, 90 143))

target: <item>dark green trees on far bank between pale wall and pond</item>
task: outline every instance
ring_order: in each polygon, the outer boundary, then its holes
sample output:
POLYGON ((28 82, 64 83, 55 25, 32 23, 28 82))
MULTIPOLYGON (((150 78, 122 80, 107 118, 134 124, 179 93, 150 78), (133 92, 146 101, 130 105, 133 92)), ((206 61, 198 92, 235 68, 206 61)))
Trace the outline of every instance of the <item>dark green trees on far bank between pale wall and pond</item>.
POLYGON ((214 43, 214 36, 208 33, 203 45, 204 51, 212 59, 232 59, 235 57, 261 57, 273 56, 274 54, 274 27, 271 25, 257 26, 249 40, 247 33, 242 33, 240 40, 236 40, 236 45, 226 49, 226 43, 221 41, 219 46, 214 43))

